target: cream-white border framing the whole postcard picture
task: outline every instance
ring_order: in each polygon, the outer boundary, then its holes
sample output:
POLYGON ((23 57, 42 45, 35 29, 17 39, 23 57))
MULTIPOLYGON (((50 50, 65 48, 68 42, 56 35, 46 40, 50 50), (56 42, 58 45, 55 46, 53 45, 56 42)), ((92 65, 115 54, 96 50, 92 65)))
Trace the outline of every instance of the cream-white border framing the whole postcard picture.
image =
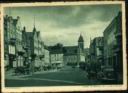
POLYGON ((127 58, 126 58, 126 21, 124 1, 82 1, 82 2, 51 2, 51 3, 8 3, 1 4, 1 74, 3 92, 61 92, 61 91, 103 91, 103 90, 126 90, 127 89, 127 58), (53 86, 53 87, 8 87, 4 84, 4 44, 3 44, 3 8, 24 6, 63 6, 63 5, 96 5, 96 4, 121 4, 122 5, 122 40, 123 40, 123 85, 82 85, 82 86, 53 86))

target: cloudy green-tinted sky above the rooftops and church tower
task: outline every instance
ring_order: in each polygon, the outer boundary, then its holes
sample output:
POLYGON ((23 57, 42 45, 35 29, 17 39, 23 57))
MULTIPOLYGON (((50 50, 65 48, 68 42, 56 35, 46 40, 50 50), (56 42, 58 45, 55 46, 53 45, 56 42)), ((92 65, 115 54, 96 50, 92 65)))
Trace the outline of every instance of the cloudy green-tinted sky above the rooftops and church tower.
POLYGON ((103 36, 104 29, 120 10, 120 5, 43 6, 6 8, 5 14, 20 16, 21 26, 29 32, 35 18, 36 29, 41 31, 46 45, 77 45, 82 34, 85 47, 89 47, 90 38, 103 36))

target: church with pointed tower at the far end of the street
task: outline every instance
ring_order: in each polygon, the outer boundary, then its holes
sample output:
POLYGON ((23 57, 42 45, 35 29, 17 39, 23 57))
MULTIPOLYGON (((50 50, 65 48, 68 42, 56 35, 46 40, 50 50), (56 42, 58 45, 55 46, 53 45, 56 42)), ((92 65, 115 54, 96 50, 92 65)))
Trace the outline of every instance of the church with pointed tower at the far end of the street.
POLYGON ((84 39, 80 35, 77 46, 64 46, 64 62, 67 65, 79 66, 82 62, 85 62, 84 55, 84 39))

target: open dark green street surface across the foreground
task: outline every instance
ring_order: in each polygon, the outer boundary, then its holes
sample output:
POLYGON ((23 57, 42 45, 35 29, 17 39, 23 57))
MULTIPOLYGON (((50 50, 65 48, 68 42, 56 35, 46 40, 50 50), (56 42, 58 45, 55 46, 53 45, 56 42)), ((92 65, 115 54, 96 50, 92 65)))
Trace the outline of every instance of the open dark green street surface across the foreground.
POLYGON ((33 75, 6 78, 7 87, 25 86, 66 86, 66 85, 95 85, 97 80, 87 78, 87 73, 79 68, 64 67, 56 71, 36 72, 33 75))

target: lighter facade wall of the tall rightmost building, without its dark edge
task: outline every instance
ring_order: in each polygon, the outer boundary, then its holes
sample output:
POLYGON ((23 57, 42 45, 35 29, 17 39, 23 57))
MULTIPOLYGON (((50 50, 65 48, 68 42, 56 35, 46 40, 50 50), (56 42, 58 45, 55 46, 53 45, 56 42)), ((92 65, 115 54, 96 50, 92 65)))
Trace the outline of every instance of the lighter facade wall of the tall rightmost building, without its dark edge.
POLYGON ((110 23, 110 25, 104 31, 104 60, 106 66, 111 67, 113 67, 114 65, 114 46, 117 45, 117 43, 119 43, 117 42, 115 33, 118 31, 121 32, 119 28, 121 26, 118 25, 120 22, 117 22, 117 19, 118 18, 115 17, 110 23))

